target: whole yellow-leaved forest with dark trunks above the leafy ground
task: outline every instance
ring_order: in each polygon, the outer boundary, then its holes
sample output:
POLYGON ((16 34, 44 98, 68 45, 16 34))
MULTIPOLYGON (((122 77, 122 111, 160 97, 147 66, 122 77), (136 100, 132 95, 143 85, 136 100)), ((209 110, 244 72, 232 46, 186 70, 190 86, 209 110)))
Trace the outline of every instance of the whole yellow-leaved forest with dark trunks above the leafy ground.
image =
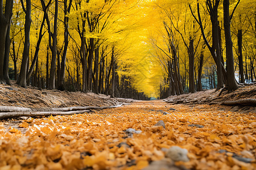
POLYGON ((134 99, 253 83, 251 1, 1 1, 0 78, 134 99))

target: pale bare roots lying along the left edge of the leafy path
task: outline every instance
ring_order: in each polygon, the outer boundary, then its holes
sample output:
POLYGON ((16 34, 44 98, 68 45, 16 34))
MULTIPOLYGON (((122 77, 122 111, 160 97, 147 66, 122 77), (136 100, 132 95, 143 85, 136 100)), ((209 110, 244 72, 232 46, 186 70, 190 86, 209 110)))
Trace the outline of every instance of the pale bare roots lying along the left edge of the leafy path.
POLYGON ((69 107, 69 108, 49 108, 51 111, 32 111, 30 108, 20 108, 20 107, 0 107, 0 119, 3 118, 14 118, 22 116, 57 116, 57 115, 69 115, 69 114, 79 114, 85 112, 92 112, 89 109, 108 109, 121 107, 122 104, 112 105, 109 107, 69 107))

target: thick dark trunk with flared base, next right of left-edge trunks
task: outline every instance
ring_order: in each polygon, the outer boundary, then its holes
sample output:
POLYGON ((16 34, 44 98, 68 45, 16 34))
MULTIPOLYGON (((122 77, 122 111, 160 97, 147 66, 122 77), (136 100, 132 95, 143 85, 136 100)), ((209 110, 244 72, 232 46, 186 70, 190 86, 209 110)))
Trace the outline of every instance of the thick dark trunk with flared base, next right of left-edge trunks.
POLYGON ((31 25, 31 0, 26 1, 26 9, 23 5, 23 11, 25 12, 25 41, 24 41, 24 49, 22 55, 22 64, 20 66, 19 78, 16 84, 19 84, 20 87, 27 87, 27 66, 28 66, 28 57, 30 55, 30 25, 31 25))

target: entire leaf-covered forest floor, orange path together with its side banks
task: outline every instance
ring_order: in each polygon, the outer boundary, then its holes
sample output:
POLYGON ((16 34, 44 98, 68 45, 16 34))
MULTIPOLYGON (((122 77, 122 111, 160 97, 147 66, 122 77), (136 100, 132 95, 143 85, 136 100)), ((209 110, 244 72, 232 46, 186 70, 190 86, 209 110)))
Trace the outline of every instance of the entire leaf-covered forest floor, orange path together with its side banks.
MULTIPOLYGON (((255 86, 238 91, 223 99, 255 99, 255 86)), ((135 101, 0 85, 1 106, 39 111, 133 101, 91 113, 1 120, 0 169, 256 169, 255 106, 166 100, 183 98, 135 101)))

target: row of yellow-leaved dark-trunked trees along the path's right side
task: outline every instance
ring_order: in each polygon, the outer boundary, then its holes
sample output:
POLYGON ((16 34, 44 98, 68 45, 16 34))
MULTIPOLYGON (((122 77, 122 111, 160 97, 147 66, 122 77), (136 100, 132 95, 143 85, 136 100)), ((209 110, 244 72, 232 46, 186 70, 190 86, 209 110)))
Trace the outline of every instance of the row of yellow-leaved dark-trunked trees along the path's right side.
POLYGON ((224 84, 229 91, 236 90, 243 86, 245 79, 247 83, 256 79, 256 13, 255 7, 249 4, 250 1, 240 0, 156 1, 162 27, 151 33, 151 44, 155 46, 154 56, 163 67, 160 96, 203 90, 203 71, 212 82, 210 87, 217 90, 224 84), (214 68, 210 74, 209 66, 214 68), (239 70, 239 82, 236 70, 239 70))

